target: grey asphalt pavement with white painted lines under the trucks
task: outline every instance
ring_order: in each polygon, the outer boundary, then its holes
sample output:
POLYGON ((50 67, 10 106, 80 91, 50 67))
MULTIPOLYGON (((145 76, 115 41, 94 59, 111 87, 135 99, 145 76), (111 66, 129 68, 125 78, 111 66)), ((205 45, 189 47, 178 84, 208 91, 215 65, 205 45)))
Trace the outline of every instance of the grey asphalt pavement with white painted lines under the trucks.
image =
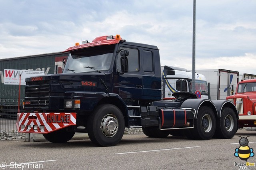
POLYGON ((34 137, 37 142, 0 141, 0 162, 2 162, 0 168, 6 170, 256 169, 256 131, 238 130, 232 139, 210 140, 190 140, 171 135, 166 138, 149 138, 144 134, 124 134, 121 142, 111 147, 95 146, 86 133, 76 133, 72 140, 66 143, 48 142, 41 134, 36 134, 34 137), (235 156, 236 149, 240 148, 240 136, 247 137, 248 147, 253 149, 247 161, 235 156), (40 165, 40 167, 31 168, 32 165, 40 165))

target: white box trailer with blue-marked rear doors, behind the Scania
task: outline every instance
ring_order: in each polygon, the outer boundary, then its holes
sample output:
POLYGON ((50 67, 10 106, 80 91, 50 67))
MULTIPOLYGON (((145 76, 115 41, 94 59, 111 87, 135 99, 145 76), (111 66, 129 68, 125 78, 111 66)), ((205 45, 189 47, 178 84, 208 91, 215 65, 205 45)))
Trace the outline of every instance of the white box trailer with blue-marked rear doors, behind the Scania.
POLYGON ((196 73, 203 74, 210 83, 210 99, 224 100, 236 90, 239 82, 239 72, 226 69, 204 69, 196 70, 196 73))

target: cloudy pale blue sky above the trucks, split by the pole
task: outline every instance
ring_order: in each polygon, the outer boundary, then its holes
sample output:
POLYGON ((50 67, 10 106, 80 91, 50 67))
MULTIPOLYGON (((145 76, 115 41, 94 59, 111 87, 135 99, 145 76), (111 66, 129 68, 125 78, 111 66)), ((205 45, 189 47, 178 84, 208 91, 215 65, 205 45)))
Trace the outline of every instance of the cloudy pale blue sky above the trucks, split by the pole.
MULTIPOLYGON (((0 59, 120 34, 192 69, 193 0, 0 0, 0 59)), ((256 74, 256 1, 196 0, 196 70, 256 74)))

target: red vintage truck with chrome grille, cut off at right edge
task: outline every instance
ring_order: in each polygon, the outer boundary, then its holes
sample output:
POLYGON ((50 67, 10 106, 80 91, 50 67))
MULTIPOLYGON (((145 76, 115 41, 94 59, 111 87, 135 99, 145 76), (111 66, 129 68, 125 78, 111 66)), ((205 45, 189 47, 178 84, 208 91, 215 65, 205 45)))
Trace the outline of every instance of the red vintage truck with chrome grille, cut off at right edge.
POLYGON ((235 95, 226 99, 232 101, 238 110, 238 127, 256 127, 256 79, 241 80, 235 95))

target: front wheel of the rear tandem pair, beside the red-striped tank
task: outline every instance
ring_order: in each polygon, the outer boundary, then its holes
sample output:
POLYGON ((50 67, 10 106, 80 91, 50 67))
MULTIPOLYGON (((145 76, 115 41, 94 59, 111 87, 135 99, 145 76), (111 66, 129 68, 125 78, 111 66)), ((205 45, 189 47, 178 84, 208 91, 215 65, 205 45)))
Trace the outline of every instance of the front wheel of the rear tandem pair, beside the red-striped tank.
POLYGON ((201 107, 194 123, 194 128, 186 131, 188 138, 196 140, 209 140, 212 138, 216 128, 216 118, 210 107, 201 107))

